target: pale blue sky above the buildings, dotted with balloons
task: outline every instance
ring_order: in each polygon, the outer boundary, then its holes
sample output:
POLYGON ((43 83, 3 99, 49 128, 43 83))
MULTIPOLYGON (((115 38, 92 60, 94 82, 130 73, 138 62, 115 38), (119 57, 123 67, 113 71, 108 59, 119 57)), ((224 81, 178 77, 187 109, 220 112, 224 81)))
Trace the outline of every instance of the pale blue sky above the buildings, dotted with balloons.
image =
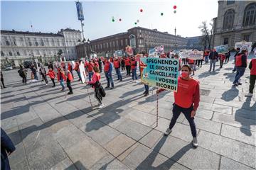
MULTIPOLYGON (((191 37, 201 35, 198 26, 202 21, 217 16, 218 1, 82 1, 82 8, 85 38, 90 40, 127 31, 137 20, 137 26, 172 34, 176 27, 178 35, 191 37)), ((42 33, 57 33, 61 28, 81 30, 75 1, 1 1, 1 30, 31 31, 31 23, 34 31, 42 33)))

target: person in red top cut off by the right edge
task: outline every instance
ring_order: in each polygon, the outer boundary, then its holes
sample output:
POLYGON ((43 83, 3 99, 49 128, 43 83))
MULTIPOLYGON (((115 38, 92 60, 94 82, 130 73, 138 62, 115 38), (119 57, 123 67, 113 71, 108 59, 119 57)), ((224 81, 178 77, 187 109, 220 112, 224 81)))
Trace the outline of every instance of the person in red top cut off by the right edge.
POLYGON ((250 69, 250 86, 249 86, 249 93, 245 95, 245 97, 252 97, 253 96, 253 89, 255 86, 256 81, 256 55, 249 64, 250 69))

